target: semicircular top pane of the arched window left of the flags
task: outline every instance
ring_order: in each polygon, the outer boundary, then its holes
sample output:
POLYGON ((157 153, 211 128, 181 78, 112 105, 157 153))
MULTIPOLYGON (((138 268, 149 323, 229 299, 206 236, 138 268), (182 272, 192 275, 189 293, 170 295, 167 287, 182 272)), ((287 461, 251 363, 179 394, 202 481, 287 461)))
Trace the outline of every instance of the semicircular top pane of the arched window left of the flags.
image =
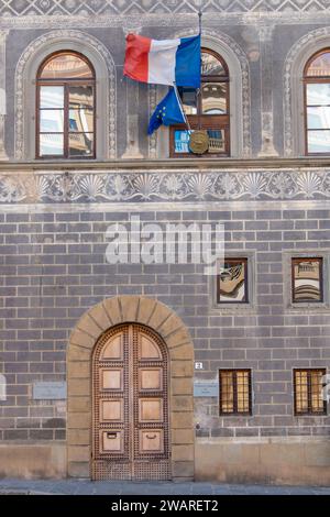
POLYGON ((92 78, 88 64, 76 54, 57 54, 50 59, 42 73, 42 79, 92 78))

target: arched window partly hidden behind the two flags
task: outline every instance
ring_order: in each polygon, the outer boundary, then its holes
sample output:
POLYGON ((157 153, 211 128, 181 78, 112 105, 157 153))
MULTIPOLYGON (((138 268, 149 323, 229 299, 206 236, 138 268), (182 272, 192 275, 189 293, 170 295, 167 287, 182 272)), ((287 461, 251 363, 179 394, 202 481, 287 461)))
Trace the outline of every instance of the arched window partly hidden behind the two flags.
MULTIPOLYGON (((178 88, 184 110, 193 130, 206 130, 209 148, 206 156, 229 156, 229 69, 213 51, 201 51, 200 89, 178 88)), ((191 156, 189 133, 185 125, 170 129, 170 155, 191 156)))

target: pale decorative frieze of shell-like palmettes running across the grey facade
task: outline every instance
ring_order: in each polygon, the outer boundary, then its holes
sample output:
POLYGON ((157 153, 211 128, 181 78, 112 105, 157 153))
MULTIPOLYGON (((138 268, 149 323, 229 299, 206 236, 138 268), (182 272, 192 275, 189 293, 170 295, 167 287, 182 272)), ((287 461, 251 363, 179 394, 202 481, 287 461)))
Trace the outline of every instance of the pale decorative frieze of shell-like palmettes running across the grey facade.
POLYGON ((1 204, 330 199, 330 169, 0 174, 1 204))

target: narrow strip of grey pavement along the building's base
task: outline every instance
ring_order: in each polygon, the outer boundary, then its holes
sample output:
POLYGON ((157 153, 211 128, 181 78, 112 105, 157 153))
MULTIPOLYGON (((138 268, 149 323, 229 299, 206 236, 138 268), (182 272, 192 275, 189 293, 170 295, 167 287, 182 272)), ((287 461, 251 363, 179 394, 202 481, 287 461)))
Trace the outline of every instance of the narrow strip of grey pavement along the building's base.
POLYGON ((88 480, 0 480, 0 495, 330 495, 330 487, 88 480))

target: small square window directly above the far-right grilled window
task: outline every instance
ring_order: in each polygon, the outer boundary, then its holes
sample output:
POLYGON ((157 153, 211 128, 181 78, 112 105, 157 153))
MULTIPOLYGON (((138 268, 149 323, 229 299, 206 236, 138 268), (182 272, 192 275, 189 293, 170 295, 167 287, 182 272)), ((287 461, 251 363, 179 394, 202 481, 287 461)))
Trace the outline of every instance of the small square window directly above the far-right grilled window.
POLYGON ((293 258, 293 301, 322 301, 322 258, 293 258))

